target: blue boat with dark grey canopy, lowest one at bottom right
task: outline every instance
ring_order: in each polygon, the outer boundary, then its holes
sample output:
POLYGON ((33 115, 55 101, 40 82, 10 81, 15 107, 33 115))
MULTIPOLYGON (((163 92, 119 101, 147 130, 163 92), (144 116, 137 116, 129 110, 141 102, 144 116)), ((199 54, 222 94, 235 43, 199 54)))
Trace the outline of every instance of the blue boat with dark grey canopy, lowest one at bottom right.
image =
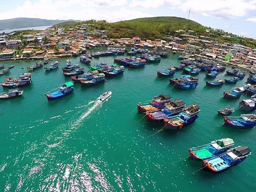
POLYGON ((248 147, 238 146, 222 153, 221 155, 214 156, 210 159, 205 159, 203 161, 203 166, 204 169, 215 173, 222 172, 234 165, 241 163, 249 155, 251 155, 251 150, 248 147))

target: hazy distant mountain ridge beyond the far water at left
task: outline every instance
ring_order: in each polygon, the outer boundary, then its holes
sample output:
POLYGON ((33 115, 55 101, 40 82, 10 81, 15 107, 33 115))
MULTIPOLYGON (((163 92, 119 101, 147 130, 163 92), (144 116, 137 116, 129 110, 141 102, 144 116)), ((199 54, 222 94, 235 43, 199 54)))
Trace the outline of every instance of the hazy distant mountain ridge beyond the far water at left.
POLYGON ((36 19, 36 18, 14 18, 14 19, 0 20, 0 30, 52 26, 57 23, 66 22, 66 21, 81 22, 80 20, 46 20, 46 19, 36 19))

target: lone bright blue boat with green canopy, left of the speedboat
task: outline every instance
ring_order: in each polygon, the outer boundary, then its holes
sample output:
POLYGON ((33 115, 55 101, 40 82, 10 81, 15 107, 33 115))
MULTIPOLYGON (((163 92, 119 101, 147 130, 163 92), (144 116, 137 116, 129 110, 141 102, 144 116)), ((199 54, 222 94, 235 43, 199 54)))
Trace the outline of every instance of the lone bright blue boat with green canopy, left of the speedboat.
POLYGON ((52 93, 46 93, 45 96, 47 97, 48 101, 52 101, 52 100, 58 100, 62 97, 65 97, 69 94, 71 94, 74 91, 74 87, 73 87, 73 82, 67 82, 64 84, 61 84, 59 86, 59 90, 56 92, 52 92, 52 93))

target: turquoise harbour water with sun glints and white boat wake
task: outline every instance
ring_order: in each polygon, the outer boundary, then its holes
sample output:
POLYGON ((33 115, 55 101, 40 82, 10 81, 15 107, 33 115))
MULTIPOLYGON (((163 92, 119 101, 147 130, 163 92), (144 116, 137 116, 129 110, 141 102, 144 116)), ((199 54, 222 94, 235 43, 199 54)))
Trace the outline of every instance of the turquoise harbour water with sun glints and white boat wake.
MULTIPOLYGON (((33 71, 32 84, 23 88, 21 98, 0 101, 0 191, 253 191, 255 151, 220 174, 196 172, 201 162, 179 161, 189 155, 189 147, 224 137, 253 150, 256 131, 220 126, 223 119, 216 111, 227 105, 238 107, 239 99, 222 98, 223 91, 234 85, 205 87, 205 72, 191 90, 177 90, 168 84, 168 78, 156 78, 158 70, 177 65, 177 57, 170 54, 159 64, 125 68, 123 75, 107 78, 105 84, 75 84, 74 93, 51 102, 44 93, 70 80, 61 70, 66 59, 58 59, 57 70, 33 71), (112 91, 112 97, 102 105, 95 102, 106 91, 112 91), (187 105, 199 104, 200 117, 179 132, 164 130, 141 140, 164 124, 145 124, 143 115, 133 109, 139 101, 169 92, 187 105)), ((113 58, 93 59, 92 64, 113 63, 113 58)), ((72 61, 79 63, 79 58, 72 61)), ((15 62, 8 76, 34 62, 15 62)), ((177 71, 174 77, 179 75, 177 71)), ((224 78, 224 73, 217 77, 224 78)), ((4 79, 0 77, 1 82, 4 79)), ((4 91, 1 87, 0 92, 4 91)), ((241 113, 237 110, 234 115, 241 113)))

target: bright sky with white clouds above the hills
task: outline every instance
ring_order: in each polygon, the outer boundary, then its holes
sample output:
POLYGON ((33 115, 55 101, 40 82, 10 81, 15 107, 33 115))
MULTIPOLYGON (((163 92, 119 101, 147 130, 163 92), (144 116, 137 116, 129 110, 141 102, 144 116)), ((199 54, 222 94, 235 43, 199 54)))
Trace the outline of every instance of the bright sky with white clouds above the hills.
POLYGON ((0 0, 0 20, 17 17, 115 22, 176 16, 256 39, 256 0, 0 0), (4 5, 4 7, 3 7, 4 5))

